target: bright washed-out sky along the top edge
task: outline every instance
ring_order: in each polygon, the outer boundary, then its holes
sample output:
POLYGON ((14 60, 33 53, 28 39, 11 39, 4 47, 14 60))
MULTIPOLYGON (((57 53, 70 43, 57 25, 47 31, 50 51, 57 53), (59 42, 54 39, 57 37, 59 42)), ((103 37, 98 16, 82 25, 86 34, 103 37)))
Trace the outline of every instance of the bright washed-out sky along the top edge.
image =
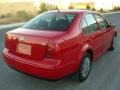
POLYGON ((29 2, 34 1, 36 4, 39 2, 47 2, 51 4, 70 4, 71 2, 94 2, 95 7, 112 8, 112 5, 120 5, 120 0, 0 0, 0 2, 29 2), (112 4, 113 3, 113 4, 112 4))

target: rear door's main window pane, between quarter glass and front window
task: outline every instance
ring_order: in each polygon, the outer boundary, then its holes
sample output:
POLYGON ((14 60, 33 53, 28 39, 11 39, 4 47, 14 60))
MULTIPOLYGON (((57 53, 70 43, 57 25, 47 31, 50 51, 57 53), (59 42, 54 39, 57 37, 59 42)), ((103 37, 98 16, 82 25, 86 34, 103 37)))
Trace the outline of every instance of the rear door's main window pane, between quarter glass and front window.
POLYGON ((98 30, 98 25, 96 23, 95 18, 93 17, 93 14, 87 14, 85 15, 85 19, 87 21, 87 24, 89 26, 90 32, 95 32, 98 30))

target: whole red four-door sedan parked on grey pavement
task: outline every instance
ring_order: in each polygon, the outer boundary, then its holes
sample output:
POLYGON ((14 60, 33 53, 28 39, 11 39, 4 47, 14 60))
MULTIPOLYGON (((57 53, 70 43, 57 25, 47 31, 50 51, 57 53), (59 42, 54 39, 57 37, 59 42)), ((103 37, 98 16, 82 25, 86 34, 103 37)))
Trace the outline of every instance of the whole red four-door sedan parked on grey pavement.
POLYGON ((48 11, 5 35, 5 62, 18 71, 47 79, 76 73, 80 81, 91 63, 114 50, 117 32, 99 13, 48 11))

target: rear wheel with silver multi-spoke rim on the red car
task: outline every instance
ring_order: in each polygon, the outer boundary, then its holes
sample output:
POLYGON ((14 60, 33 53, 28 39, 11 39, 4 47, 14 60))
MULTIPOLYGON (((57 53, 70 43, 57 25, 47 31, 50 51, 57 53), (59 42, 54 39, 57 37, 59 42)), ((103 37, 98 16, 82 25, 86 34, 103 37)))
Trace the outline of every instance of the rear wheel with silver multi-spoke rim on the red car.
POLYGON ((90 72, 90 69, 91 69, 91 55, 89 53, 87 53, 81 64, 80 64, 80 67, 77 71, 77 78, 79 81, 84 81, 87 79, 88 75, 89 75, 89 72, 90 72))

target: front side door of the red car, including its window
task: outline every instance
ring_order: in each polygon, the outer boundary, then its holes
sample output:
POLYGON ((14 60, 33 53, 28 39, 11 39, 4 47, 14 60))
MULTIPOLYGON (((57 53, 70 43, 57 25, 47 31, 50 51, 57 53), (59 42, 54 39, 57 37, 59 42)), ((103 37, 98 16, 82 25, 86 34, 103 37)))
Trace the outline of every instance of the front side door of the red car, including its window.
POLYGON ((94 16, 95 16, 95 19, 97 20, 97 23, 99 25, 99 30, 101 32, 101 37, 103 39, 102 41, 104 43, 103 49, 105 51, 106 49, 109 48, 109 46, 112 42, 112 38, 113 38, 112 31, 113 30, 111 30, 112 28, 110 27, 110 25, 108 24, 108 22, 106 21, 106 19, 102 15, 95 13, 94 16))

